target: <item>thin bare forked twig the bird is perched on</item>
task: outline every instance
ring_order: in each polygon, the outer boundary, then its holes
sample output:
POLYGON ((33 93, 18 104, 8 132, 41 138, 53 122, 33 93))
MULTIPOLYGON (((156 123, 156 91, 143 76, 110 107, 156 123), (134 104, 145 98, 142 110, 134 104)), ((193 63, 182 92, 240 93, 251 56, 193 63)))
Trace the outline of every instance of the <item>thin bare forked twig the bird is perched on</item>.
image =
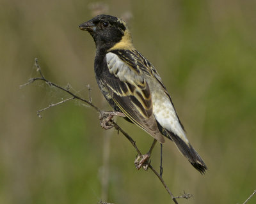
MULTIPOLYGON (((46 108, 43 108, 41 110, 38 110, 37 112, 37 115, 38 117, 42 117, 40 115, 40 112, 43 112, 45 110, 48 110, 49 108, 53 107, 53 106, 56 106, 56 105, 60 105, 61 103, 65 103, 71 99, 78 99, 80 101, 83 101, 84 103, 87 103, 88 105, 92 106, 92 108, 94 108, 98 113, 101 113, 102 111, 95 105, 93 105, 92 103, 92 98, 90 96, 90 85, 88 86, 88 91, 89 91, 89 101, 84 99, 84 98, 81 98, 79 96, 77 96, 76 94, 70 92, 70 85, 67 85, 67 87, 61 87, 60 85, 58 84, 54 84, 53 82, 50 82, 49 80, 47 80, 44 75, 42 74, 42 69, 40 68, 40 65, 38 64, 38 60, 35 59, 35 67, 36 67, 36 71, 38 71, 38 73, 40 74, 40 77, 35 77, 35 78, 29 78, 28 82, 26 84, 23 84, 23 85, 20 85, 20 88, 21 87, 24 87, 26 85, 29 85, 29 84, 32 84, 33 82, 35 82, 36 80, 42 80, 44 82, 46 82, 48 85, 50 86, 53 86, 53 87, 56 87, 58 89, 61 89, 62 91, 65 91, 67 92, 68 94, 70 94, 72 97, 71 98, 67 98, 67 99, 64 99, 63 101, 60 101, 58 103, 55 103, 55 104, 50 104, 49 106, 47 106, 46 108)), ((132 146, 134 147, 134 149, 136 150, 136 152, 138 153, 139 156, 142 156, 140 150, 138 149, 137 145, 136 145, 136 142, 131 138, 131 136, 129 136, 122 128, 120 128, 120 126, 118 126, 118 124, 116 124, 115 122, 112 123, 112 126, 119 132, 121 132, 128 140, 129 142, 131 142, 132 146)), ((163 184, 164 188, 166 189, 166 191, 168 192, 168 194, 170 194, 172 200, 174 201, 174 203, 178 203, 176 198, 185 198, 184 196, 178 196, 178 197, 175 197, 173 196, 172 192, 170 191, 170 189, 168 188, 168 186, 166 186, 163 178, 161 177, 161 175, 159 175, 159 173, 157 173, 157 171, 153 168, 153 166, 151 164, 148 165, 148 167, 150 168, 150 170, 152 170, 155 175, 158 177, 158 179, 161 181, 161 183, 163 184)), ((188 199, 188 198, 186 198, 188 199)))

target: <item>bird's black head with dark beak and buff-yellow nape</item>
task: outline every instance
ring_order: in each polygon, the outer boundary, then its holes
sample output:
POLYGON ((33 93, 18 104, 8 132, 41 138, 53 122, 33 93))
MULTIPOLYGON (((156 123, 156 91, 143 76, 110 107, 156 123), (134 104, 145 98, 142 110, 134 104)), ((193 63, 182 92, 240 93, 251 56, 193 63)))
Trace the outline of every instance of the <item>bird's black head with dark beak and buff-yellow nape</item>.
POLYGON ((97 15, 79 25, 83 31, 88 31, 95 41, 97 50, 116 50, 133 48, 132 38, 126 23, 111 15, 97 15))

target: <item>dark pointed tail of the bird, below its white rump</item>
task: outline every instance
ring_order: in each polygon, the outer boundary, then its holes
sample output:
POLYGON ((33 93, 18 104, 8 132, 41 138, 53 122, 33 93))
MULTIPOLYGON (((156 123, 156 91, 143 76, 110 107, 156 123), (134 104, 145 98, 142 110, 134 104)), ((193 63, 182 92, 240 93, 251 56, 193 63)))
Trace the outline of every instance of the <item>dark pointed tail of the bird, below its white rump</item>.
POLYGON ((196 168, 196 170, 198 170, 201 174, 204 174, 207 170, 207 166, 205 165, 203 159, 201 159, 199 154, 196 152, 196 150, 191 146, 191 144, 187 144, 179 136, 171 133, 168 130, 166 130, 166 132, 170 138, 172 138, 180 152, 188 159, 188 161, 196 168))

